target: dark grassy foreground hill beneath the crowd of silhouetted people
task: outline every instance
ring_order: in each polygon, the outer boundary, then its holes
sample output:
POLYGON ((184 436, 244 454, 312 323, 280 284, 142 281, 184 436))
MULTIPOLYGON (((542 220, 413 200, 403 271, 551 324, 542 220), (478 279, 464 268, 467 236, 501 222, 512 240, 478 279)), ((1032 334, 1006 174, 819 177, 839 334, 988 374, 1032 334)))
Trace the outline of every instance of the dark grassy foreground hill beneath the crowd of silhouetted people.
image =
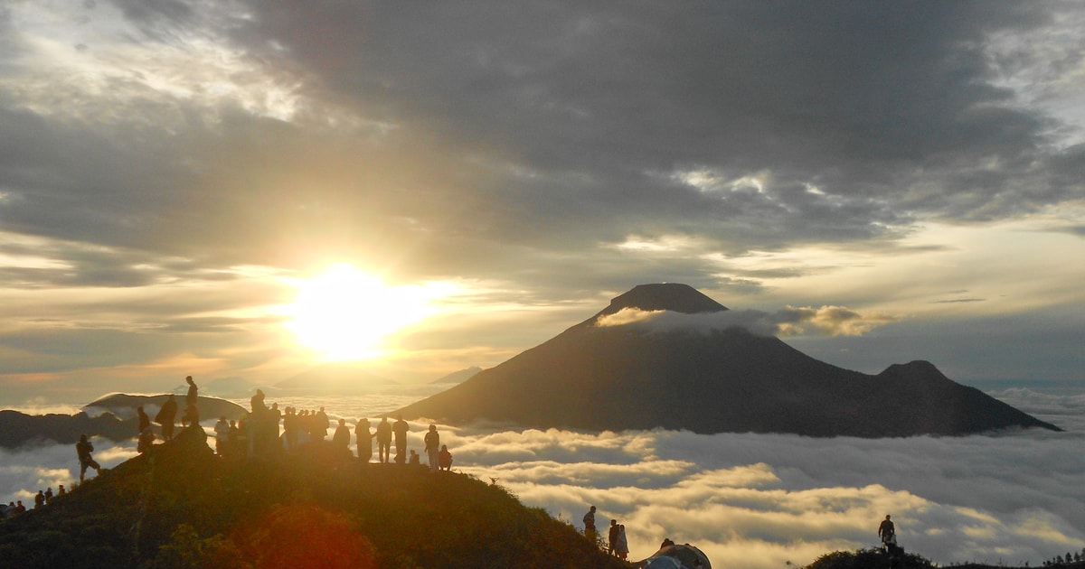
POLYGON ((200 429, 0 523, 0 567, 621 568, 497 486, 331 443, 214 456, 200 429), (17 560, 17 565, 7 565, 17 560))

